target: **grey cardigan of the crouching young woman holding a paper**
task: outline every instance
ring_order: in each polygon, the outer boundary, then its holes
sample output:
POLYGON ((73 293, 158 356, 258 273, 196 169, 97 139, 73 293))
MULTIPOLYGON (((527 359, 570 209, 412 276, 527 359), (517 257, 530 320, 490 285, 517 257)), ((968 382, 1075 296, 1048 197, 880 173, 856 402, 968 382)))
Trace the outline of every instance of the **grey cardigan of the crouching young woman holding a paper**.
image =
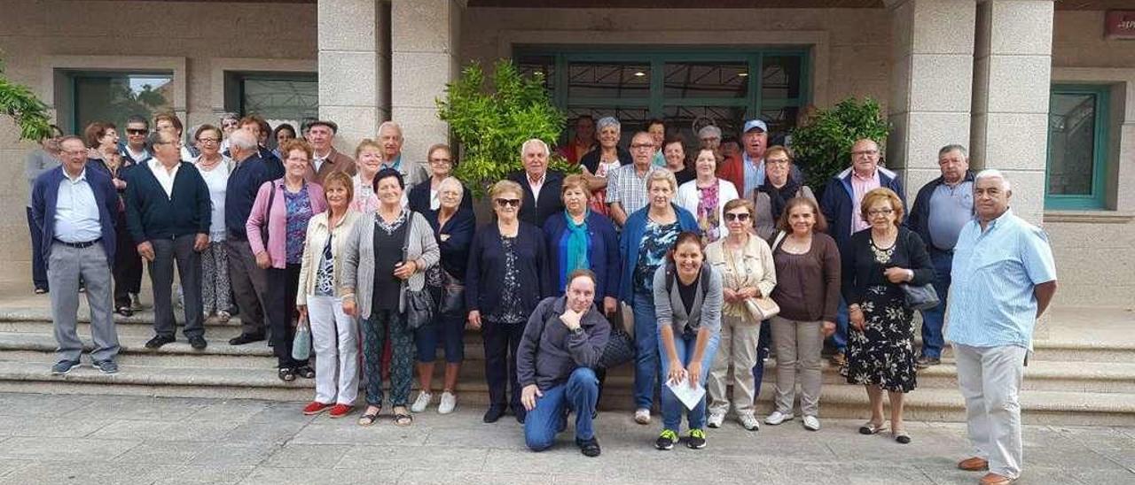
POLYGON ((676 274, 674 275, 674 287, 669 292, 666 291, 667 266, 669 264, 663 264, 654 272, 654 312, 658 320, 658 327, 671 325, 675 338, 682 334, 682 329, 687 324, 695 331, 706 327, 715 333, 720 332, 721 305, 724 301, 721 290, 721 272, 708 264, 704 266, 709 270, 709 281, 705 281, 704 278, 698 281, 698 288, 693 292, 693 312, 687 314, 682 296, 678 291, 676 274), (703 284, 708 284, 705 297, 701 296, 703 284))

